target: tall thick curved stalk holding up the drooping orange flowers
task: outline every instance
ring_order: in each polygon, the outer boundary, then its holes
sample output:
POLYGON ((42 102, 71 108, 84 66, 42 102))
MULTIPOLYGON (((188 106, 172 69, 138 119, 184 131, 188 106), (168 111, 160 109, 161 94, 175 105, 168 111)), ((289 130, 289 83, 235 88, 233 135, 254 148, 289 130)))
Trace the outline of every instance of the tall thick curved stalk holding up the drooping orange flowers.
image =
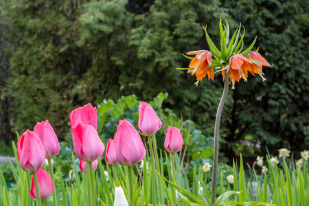
POLYGON ((227 75, 227 71, 225 70, 225 86, 218 106, 216 114, 215 130, 214 130, 214 165, 213 165, 214 169, 212 170, 211 205, 214 204, 216 201, 220 119, 221 119, 222 108, 225 105, 225 100, 227 99, 227 91, 229 91, 229 78, 227 75))

